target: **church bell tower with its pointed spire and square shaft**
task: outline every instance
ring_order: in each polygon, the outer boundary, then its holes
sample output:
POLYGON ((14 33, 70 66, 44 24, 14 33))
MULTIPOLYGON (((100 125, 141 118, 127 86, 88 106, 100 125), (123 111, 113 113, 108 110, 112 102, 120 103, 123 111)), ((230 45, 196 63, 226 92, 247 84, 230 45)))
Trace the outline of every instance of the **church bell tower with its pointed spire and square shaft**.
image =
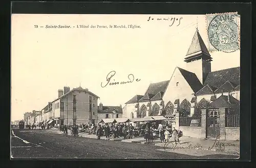
POLYGON ((198 30, 196 30, 184 61, 187 63, 186 70, 195 73, 203 85, 207 74, 211 72, 212 58, 198 30))

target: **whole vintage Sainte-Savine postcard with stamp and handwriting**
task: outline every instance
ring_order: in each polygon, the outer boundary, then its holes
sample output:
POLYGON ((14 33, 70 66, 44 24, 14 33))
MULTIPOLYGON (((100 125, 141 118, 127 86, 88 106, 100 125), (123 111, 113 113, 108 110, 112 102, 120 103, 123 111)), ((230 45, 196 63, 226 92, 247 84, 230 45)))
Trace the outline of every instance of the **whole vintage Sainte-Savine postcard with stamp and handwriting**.
POLYGON ((240 15, 12 14, 11 159, 238 159, 240 15))

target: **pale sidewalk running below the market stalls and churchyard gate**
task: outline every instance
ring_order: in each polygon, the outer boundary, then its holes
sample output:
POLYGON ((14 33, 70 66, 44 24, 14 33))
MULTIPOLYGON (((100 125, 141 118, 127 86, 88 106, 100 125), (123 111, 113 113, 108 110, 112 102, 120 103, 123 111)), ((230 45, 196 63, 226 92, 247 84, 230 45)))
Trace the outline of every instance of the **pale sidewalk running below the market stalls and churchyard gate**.
MULTIPOLYGON (((53 133, 63 134, 59 130, 48 130, 53 133)), ((70 135, 70 131, 68 132, 70 135)), ((97 139, 95 134, 79 133, 79 136, 97 139)), ((145 144, 144 137, 134 137, 132 139, 119 138, 106 138, 101 136, 100 139, 107 141, 121 141, 124 143, 140 143, 145 144)), ((160 138, 153 140, 153 145, 163 147, 159 149, 166 152, 176 152, 180 154, 190 154, 194 156, 210 155, 210 154, 229 154, 239 156, 240 142, 239 141, 220 141, 216 139, 200 139, 189 136, 182 136, 180 138, 180 144, 175 144, 174 138, 171 137, 168 143, 160 143, 160 138), (222 146, 221 146, 222 145, 222 146)), ((145 144, 146 145, 146 144, 145 144)))

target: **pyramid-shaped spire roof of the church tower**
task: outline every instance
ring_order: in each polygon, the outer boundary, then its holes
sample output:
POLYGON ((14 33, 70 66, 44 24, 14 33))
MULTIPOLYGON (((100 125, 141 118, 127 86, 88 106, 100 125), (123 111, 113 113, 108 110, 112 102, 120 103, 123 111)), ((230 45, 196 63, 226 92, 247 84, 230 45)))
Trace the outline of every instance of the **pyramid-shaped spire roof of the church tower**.
POLYGON ((197 30, 192 41, 191 41, 191 44, 187 50, 185 59, 189 59, 189 58, 194 57, 195 55, 200 54, 200 53, 204 53, 205 55, 208 56, 209 59, 211 59, 208 49, 205 46, 203 39, 199 34, 199 31, 197 30))

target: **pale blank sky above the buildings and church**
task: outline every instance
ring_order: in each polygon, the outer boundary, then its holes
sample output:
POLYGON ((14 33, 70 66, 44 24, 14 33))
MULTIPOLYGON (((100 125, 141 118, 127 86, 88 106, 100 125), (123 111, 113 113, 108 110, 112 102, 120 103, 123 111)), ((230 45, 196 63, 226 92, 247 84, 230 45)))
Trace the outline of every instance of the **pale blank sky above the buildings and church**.
MULTIPOLYGON (((11 120, 41 110, 64 86, 87 88, 103 105, 124 106, 136 94, 144 95, 151 82, 169 80, 176 66, 185 69, 196 27, 208 48, 205 15, 12 14, 11 120), (172 17, 174 23, 163 20, 172 17), (140 28, 110 27, 129 24, 140 28), (46 29, 46 25, 71 28, 46 29), (113 70, 116 82, 127 81, 129 74, 140 81, 102 88, 101 82, 105 85, 113 70)), ((239 50, 210 54, 211 71, 240 66, 239 50)))

